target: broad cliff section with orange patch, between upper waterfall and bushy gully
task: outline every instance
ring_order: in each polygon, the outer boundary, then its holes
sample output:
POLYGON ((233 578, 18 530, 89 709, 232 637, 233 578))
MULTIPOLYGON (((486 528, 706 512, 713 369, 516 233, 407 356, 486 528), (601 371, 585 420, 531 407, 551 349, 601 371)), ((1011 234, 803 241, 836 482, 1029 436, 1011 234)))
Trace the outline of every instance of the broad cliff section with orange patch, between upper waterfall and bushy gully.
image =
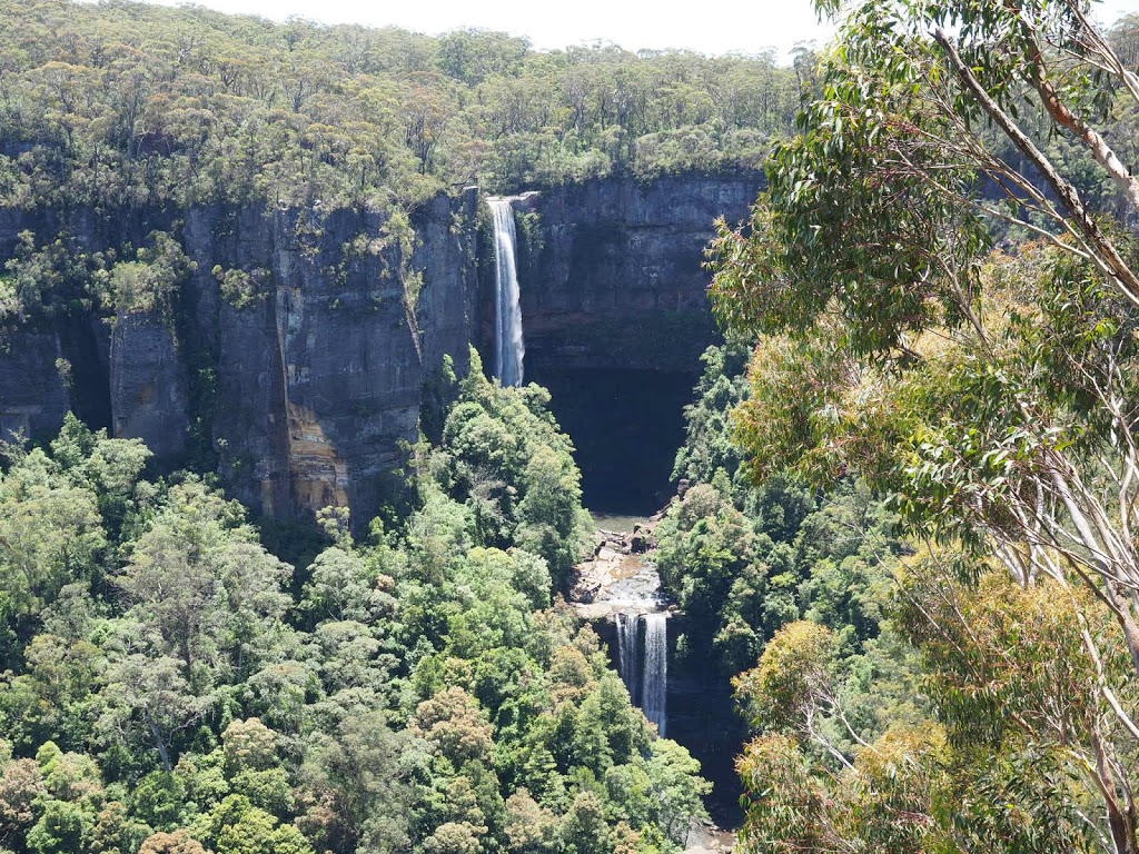
POLYGON ((347 504, 363 524, 396 488, 385 478, 418 436, 425 381, 444 354, 466 366, 474 205, 472 191, 420 211, 410 256, 387 223, 347 211, 319 223, 245 213, 212 245, 215 219, 188 220, 194 313, 214 354, 199 360, 215 366, 211 438, 236 496, 278 517, 347 504), (219 251, 272 286, 230 305, 203 274, 219 251))

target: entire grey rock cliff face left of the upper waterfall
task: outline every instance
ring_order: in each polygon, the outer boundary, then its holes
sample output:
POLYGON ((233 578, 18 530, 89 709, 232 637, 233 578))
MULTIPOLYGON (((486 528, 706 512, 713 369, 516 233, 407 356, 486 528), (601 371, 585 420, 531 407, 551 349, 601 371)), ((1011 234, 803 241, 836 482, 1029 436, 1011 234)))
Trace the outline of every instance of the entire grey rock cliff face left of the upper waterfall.
MULTIPOLYGON (((185 212, 197 269, 175 317, 71 318, 11 334, 0 432, 44 437, 68 409, 106 410, 92 426, 145 440, 167 465, 213 462, 255 511, 351 504, 366 523, 418 436, 425 381, 444 354, 466 369, 475 203, 473 190, 434 199, 412 216, 411 245, 380 216, 351 211, 185 212), (227 298, 215 268, 253 276, 254 293, 227 298)), ((9 214, 0 257, 25 229, 104 248, 162 228, 162 216, 116 230, 85 212, 9 214)))

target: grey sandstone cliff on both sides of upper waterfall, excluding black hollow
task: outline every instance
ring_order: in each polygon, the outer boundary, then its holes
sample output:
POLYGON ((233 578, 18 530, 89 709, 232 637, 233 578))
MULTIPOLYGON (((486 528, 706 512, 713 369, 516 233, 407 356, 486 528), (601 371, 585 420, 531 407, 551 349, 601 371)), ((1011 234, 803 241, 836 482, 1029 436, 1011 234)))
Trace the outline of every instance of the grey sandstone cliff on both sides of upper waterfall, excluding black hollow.
MULTIPOLYGON (((519 203, 527 370, 695 371, 715 338, 700 269, 712 220, 744 216, 757 186, 593 181, 519 203)), ((255 512, 350 504, 366 524, 398 488, 444 356, 461 375, 468 343, 492 352, 476 212, 473 189, 432 200, 411 217, 413 246, 352 211, 0 212, 0 262, 25 229, 90 251, 162 229, 197 264, 174 317, 73 315, 9 332, 0 433, 49 436, 73 409, 167 466, 216 468, 255 512), (218 268, 254 286, 235 298, 218 268)))

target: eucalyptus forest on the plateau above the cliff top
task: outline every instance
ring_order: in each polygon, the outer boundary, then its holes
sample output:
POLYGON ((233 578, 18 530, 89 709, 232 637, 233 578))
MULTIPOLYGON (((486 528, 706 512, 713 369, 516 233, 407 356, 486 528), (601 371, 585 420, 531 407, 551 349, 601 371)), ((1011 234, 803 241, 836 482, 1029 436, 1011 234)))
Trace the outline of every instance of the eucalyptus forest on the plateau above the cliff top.
POLYGON ((0 204, 388 211, 456 184, 756 170, 798 73, 771 56, 0 5, 0 204))

